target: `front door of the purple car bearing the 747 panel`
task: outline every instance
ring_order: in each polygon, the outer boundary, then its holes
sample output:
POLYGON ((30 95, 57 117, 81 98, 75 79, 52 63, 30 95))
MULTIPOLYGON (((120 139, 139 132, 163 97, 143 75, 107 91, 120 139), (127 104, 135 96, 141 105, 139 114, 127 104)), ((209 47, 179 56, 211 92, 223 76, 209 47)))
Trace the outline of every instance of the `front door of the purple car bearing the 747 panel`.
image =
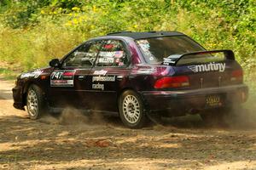
POLYGON ((49 87, 51 106, 57 108, 86 106, 81 103, 80 91, 87 88, 88 84, 81 82, 86 80, 96 61, 99 48, 91 50, 95 46, 96 42, 86 42, 75 48, 62 60, 61 67, 51 73, 49 87))

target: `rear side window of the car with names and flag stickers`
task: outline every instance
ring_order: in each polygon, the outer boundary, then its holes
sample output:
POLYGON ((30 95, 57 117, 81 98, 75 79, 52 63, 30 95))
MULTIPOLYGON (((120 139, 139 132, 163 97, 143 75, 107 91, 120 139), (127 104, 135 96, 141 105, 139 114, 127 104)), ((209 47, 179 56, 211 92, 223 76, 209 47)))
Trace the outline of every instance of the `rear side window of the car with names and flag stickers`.
POLYGON ((98 55, 96 65, 119 67, 128 65, 128 58, 123 42, 119 40, 107 40, 98 55))

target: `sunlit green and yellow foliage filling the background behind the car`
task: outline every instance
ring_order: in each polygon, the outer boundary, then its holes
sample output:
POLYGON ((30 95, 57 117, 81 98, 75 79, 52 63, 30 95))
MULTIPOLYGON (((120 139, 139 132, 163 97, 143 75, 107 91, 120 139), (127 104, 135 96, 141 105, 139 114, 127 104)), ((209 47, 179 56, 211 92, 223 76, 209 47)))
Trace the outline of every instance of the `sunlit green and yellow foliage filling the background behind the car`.
POLYGON ((0 59, 19 62, 25 70, 47 65, 90 37, 163 30, 182 31, 208 49, 230 48, 247 75, 256 71, 254 0, 3 2, 0 59))

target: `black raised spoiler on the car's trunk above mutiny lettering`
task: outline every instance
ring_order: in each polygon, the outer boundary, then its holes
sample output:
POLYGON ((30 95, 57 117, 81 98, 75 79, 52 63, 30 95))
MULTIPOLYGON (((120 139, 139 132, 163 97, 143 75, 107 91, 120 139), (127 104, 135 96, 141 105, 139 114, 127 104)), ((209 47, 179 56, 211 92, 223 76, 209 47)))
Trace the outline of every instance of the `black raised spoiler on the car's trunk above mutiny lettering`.
POLYGON ((187 54, 182 54, 176 61, 173 63, 173 65, 177 65, 177 62, 182 59, 184 56, 188 55, 200 55, 200 54, 216 54, 216 53, 224 53, 224 56, 226 59, 231 59, 235 60, 235 54, 232 50, 230 49, 222 49, 222 50, 211 50, 211 51, 197 51, 193 53, 187 53, 187 54))

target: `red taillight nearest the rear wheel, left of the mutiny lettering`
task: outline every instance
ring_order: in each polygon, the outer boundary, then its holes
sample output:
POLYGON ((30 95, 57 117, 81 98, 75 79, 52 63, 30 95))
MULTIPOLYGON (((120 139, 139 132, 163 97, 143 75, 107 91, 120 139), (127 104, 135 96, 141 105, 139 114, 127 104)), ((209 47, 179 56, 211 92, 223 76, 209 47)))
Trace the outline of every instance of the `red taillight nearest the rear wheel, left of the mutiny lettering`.
POLYGON ((162 77, 154 83, 154 88, 181 88, 189 86, 189 77, 162 77))

